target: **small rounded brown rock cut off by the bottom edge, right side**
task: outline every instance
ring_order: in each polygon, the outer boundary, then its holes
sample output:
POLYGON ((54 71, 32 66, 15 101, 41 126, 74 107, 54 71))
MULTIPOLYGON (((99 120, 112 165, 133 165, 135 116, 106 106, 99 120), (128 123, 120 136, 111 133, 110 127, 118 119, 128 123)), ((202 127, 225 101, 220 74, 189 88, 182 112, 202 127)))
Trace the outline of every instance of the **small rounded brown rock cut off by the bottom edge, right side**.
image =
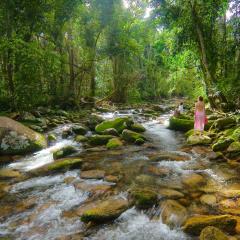
POLYGON ((200 240, 228 240, 228 236, 216 227, 206 227, 202 230, 200 240))

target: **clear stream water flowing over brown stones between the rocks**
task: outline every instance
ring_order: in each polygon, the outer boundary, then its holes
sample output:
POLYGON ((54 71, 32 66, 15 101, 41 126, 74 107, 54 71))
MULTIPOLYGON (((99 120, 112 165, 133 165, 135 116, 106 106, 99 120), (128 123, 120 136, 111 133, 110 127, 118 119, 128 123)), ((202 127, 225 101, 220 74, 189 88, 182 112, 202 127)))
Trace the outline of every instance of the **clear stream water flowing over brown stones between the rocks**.
MULTIPOLYGON (((155 176, 155 187, 172 188, 190 194, 181 185, 183 176, 200 173, 212 186, 224 188, 227 184, 238 183, 237 173, 226 163, 212 163, 206 157, 206 149, 182 148, 184 136, 181 133, 167 129, 169 115, 157 119, 149 119, 133 111, 103 114, 106 119, 117 116, 132 116, 143 123, 147 129, 145 136, 149 142, 144 146, 129 145, 119 150, 92 149, 86 150, 70 137, 63 140, 61 132, 69 126, 60 126, 51 133, 57 135, 57 142, 40 152, 20 159, 8 167, 22 172, 38 168, 53 161, 53 151, 66 145, 79 149, 77 156, 83 158, 95 169, 103 169, 109 174, 121 173, 122 181, 115 183, 104 180, 83 180, 80 170, 66 173, 28 178, 10 184, 9 193, 1 200, 0 237, 8 236, 19 240, 50 240, 50 239, 85 239, 85 240, 188 240, 194 239, 185 235, 180 228, 170 229, 162 223, 159 206, 149 211, 140 211, 135 207, 124 212, 114 222, 87 229, 71 211, 91 198, 88 189, 79 189, 75 184, 84 183, 87 186, 106 185, 115 189, 115 194, 126 198, 128 188, 139 176, 149 174, 149 166, 164 168, 169 171, 164 177, 155 176), (152 154, 164 152, 181 157, 188 161, 162 159, 150 161, 152 154), (71 180, 71 181, 68 181, 71 180), (155 218, 153 216, 156 216, 155 218), (67 238, 66 236, 72 236, 67 238), (65 238, 66 237, 66 238, 65 238), (74 238, 75 237, 75 238, 74 238)), ((211 189, 210 189, 211 190, 211 189)), ((188 207, 191 214, 209 211, 199 202, 188 207)))

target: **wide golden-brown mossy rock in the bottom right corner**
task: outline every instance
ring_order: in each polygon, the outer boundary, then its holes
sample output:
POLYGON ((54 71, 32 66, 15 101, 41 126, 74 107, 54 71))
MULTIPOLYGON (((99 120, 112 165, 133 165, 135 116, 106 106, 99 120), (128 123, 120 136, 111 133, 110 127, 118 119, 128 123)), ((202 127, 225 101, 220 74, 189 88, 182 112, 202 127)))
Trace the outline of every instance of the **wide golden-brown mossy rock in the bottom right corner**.
POLYGON ((188 234, 198 236, 205 227, 212 226, 233 234, 236 225, 237 220, 231 215, 199 215, 188 218, 183 230, 188 234))

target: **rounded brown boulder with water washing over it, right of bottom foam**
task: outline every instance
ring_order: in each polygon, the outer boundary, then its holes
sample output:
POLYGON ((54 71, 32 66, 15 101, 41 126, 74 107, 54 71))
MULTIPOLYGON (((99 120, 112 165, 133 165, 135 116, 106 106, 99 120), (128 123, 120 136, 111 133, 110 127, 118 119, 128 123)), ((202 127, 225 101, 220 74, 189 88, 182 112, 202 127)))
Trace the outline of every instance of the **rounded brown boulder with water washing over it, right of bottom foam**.
POLYGON ((162 221, 171 228, 181 226, 187 218, 187 209, 175 200, 167 200, 161 204, 162 221))

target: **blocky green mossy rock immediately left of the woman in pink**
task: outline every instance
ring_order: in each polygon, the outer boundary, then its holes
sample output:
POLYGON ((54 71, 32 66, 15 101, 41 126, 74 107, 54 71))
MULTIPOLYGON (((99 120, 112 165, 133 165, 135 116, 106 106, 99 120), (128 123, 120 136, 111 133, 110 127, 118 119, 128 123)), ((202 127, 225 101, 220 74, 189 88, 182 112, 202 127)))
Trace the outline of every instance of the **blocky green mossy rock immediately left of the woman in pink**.
POLYGON ((169 129, 187 132, 194 127, 194 120, 180 119, 171 117, 169 120, 169 129))

